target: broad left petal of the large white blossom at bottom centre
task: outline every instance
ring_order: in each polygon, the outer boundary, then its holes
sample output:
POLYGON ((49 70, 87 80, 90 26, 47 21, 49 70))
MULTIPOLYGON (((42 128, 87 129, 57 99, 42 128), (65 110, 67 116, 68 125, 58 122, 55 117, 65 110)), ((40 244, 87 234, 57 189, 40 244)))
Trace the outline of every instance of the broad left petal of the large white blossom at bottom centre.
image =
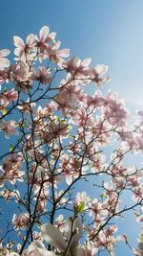
POLYGON ((62 233, 53 225, 45 224, 41 227, 41 233, 45 241, 61 251, 65 251, 67 244, 65 243, 62 233))

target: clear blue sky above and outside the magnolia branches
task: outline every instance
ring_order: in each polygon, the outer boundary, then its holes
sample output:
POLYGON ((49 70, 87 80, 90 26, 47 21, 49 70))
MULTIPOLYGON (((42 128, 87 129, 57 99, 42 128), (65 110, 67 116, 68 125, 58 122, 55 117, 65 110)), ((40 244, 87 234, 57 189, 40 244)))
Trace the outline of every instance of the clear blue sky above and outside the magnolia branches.
MULTIPOLYGON (((133 111, 143 109, 142 0, 0 0, 0 8, 0 49, 13 49, 13 35, 49 25, 72 56, 109 65, 112 81, 104 90, 119 92, 133 111)), ((132 229, 133 242, 138 229, 132 229)))

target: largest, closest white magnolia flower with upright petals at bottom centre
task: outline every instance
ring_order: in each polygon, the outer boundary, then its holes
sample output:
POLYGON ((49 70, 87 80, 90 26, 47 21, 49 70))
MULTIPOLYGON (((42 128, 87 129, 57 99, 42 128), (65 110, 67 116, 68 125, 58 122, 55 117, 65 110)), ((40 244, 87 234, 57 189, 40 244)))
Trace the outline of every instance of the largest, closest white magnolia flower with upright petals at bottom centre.
POLYGON ((83 225, 79 217, 69 220, 64 224, 63 234, 55 226, 44 224, 41 228, 43 238, 60 252, 65 252, 68 248, 69 256, 78 256, 78 242, 83 231, 83 225))

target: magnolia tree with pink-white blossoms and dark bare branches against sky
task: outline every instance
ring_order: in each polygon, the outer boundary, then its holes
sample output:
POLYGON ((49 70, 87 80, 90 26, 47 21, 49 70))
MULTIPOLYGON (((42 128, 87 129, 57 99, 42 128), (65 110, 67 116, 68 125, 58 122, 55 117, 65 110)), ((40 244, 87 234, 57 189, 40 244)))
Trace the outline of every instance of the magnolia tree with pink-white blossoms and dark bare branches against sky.
POLYGON ((114 255, 132 249, 118 220, 143 221, 143 112, 132 125, 116 93, 88 94, 108 67, 69 58, 55 35, 14 36, 13 64, 0 51, 0 255, 114 255))

